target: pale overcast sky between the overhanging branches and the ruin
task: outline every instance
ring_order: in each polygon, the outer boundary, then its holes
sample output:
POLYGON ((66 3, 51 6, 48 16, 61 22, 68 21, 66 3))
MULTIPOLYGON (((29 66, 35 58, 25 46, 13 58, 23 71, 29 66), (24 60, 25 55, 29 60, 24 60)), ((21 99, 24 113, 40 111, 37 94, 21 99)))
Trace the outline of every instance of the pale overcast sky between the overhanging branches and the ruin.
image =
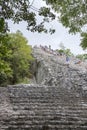
MULTIPOLYGON (((39 8, 39 6, 45 5, 44 2, 33 0, 33 6, 39 8)), ((44 34, 44 33, 33 33, 28 30, 26 30, 26 23, 21 22, 20 24, 13 24, 11 20, 8 22, 10 32, 16 32, 17 30, 20 30, 23 35, 27 38, 29 45, 32 46, 39 46, 39 45, 51 45, 52 49, 59 49, 60 43, 63 43, 63 45, 70 49, 71 52, 75 55, 77 54, 83 54, 85 51, 82 50, 80 45, 80 35, 72 35, 68 33, 68 29, 66 29, 61 23, 58 21, 54 21, 52 23, 49 23, 50 27, 56 28, 56 32, 52 35, 50 34, 44 34)))

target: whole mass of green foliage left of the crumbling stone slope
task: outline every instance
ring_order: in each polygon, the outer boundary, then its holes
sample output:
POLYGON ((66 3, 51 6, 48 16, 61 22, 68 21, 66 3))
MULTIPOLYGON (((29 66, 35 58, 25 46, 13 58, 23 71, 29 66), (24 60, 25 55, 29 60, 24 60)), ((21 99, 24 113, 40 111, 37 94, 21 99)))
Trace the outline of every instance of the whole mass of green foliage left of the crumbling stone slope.
POLYGON ((32 48, 17 31, 0 37, 0 85, 15 84, 30 77, 32 48))

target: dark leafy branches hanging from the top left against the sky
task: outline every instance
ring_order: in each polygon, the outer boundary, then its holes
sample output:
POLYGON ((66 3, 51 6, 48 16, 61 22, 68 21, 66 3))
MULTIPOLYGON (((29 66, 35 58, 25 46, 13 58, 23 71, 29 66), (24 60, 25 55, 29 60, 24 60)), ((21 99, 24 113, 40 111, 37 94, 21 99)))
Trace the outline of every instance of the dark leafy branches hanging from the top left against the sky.
MULTIPOLYGON (((50 8, 41 7, 37 9, 30 0, 0 0, 1 24, 4 22, 7 26, 7 20, 9 19, 14 23, 19 23, 24 20, 27 22, 28 30, 47 33, 44 22, 55 19, 55 15, 51 12, 50 8), (37 14, 42 18, 41 22, 38 22, 37 14)), ((49 32, 52 33, 54 30, 49 29, 49 32)))

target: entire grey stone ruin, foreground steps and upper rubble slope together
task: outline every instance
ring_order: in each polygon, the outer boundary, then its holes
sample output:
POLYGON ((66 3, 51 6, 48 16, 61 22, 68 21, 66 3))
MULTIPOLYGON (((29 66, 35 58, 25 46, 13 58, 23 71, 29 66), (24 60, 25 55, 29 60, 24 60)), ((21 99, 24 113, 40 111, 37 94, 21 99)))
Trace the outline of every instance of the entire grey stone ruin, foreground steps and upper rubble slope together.
POLYGON ((0 130, 87 130, 87 69, 34 48, 30 84, 0 87, 0 130))

